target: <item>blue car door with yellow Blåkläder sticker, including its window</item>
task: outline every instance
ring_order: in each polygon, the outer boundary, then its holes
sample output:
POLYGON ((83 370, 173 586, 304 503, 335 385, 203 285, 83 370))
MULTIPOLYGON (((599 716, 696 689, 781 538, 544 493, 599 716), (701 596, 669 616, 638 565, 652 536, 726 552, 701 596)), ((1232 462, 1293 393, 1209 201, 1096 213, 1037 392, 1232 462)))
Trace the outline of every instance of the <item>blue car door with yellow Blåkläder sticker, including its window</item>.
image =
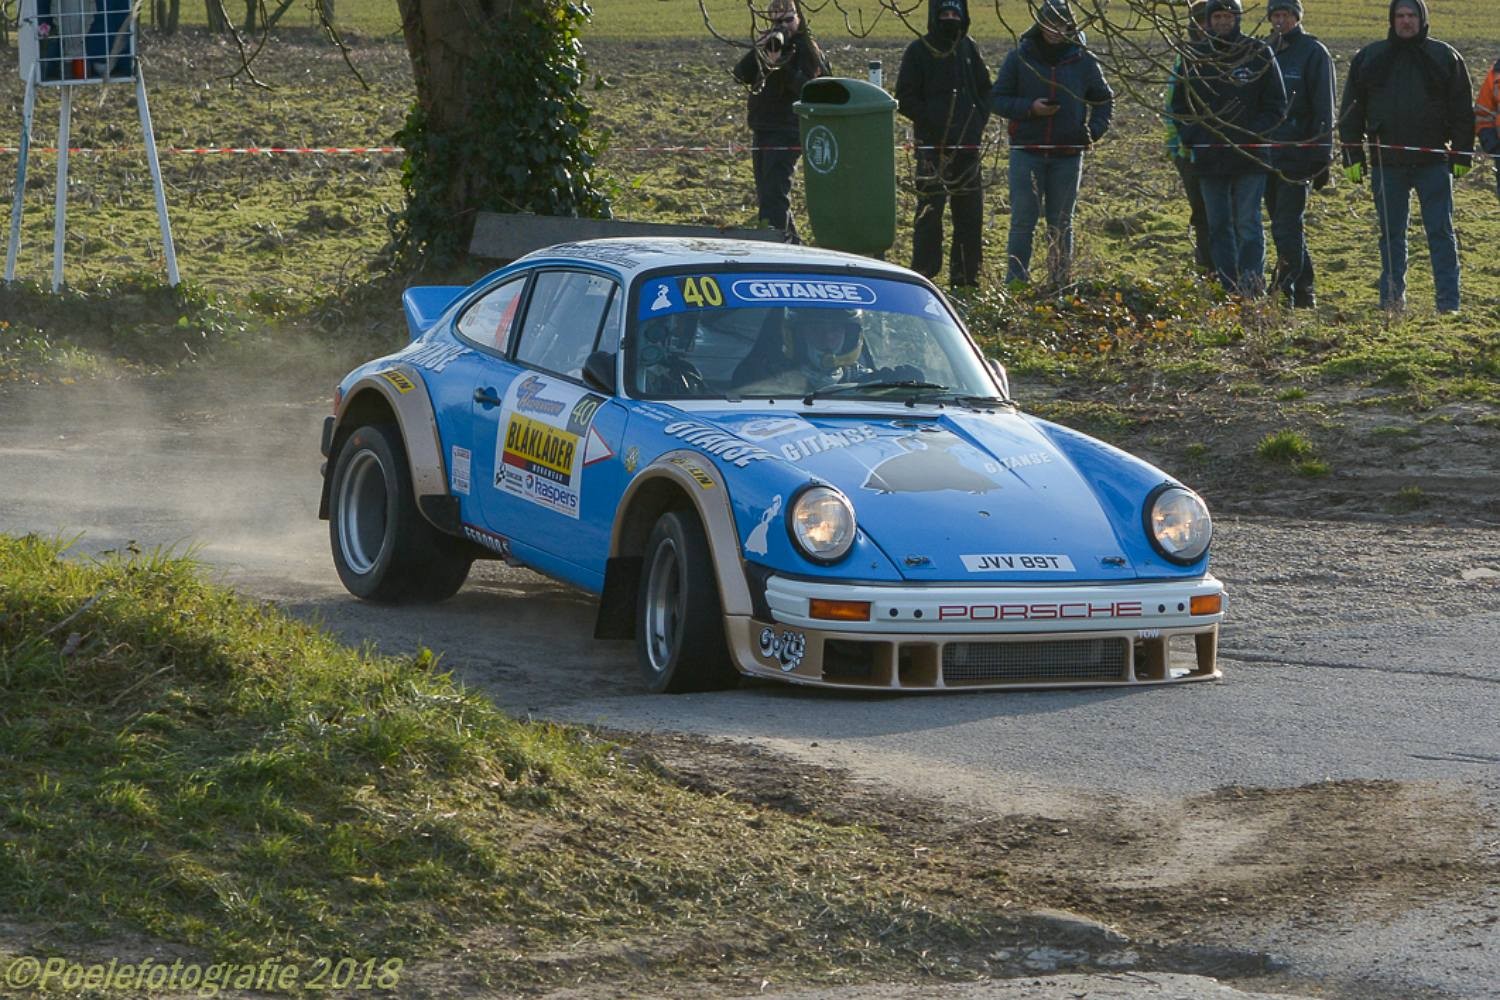
POLYGON ((612 277, 538 270, 512 351, 516 376, 498 402, 476 408, 476 447, 486 448, 490 475, 478 498, 486 528, 524 562, 596 591, 624 489, 614 459, 626 414, 585 385, 584 361, 618 348, 621 312, 612 277))

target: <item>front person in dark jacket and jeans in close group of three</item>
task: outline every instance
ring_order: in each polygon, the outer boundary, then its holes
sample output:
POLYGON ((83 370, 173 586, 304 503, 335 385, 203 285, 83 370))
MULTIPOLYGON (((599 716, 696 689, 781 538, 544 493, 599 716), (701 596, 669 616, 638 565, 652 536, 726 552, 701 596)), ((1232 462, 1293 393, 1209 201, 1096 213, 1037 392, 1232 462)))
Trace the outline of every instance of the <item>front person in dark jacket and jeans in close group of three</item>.
POLYGON ((1264 42, 1240 31, 1240 0, 1209 0, 1208 37, 1188 46, 1172 117, 1203 189, 1220 283, 1258 295, 1266 283, 1266 196, 1270 130, 1287 109, 1281 70, 1264 42))

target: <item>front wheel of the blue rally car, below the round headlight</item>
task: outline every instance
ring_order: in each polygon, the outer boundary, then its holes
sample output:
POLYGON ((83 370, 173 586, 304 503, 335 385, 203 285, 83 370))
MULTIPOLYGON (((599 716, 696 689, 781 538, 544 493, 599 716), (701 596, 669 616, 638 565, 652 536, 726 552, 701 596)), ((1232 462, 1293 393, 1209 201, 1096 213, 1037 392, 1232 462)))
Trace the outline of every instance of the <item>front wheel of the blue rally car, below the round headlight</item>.
POLYGON ((662 514, 651 529, 636 598, 636 652, 657 694, 720 691, 740 679, 724 642, 708 538, 690 513, 662 514))

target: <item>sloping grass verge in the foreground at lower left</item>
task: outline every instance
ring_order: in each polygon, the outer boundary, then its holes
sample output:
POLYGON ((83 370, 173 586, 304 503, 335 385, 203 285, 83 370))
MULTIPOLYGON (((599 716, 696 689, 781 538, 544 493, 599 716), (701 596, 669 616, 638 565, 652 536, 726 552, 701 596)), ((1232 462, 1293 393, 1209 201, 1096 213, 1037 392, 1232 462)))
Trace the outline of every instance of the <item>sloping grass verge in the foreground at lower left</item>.
POLYGON ((681 787, 166 555, 0 537, 0 913, 80 942, 384 961, 484 928, 492 988, 584 939, 603 970, 670 939, 652 961, 816 978, 921 969, 1002 906, 1000 873, 958 892, 872 829, 681 787))

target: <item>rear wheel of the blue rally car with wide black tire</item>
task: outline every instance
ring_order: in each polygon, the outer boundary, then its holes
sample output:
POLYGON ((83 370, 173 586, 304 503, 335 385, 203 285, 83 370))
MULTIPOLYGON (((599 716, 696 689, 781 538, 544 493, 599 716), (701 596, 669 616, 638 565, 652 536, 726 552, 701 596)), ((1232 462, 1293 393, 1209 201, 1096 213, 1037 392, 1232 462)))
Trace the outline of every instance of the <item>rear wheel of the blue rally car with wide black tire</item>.
POLYGON ((400 432, 357 427, 328 487, 333 565, 350 594, 380 604, 442 601, 464 586, 472 556, 417 511, 400 432))

